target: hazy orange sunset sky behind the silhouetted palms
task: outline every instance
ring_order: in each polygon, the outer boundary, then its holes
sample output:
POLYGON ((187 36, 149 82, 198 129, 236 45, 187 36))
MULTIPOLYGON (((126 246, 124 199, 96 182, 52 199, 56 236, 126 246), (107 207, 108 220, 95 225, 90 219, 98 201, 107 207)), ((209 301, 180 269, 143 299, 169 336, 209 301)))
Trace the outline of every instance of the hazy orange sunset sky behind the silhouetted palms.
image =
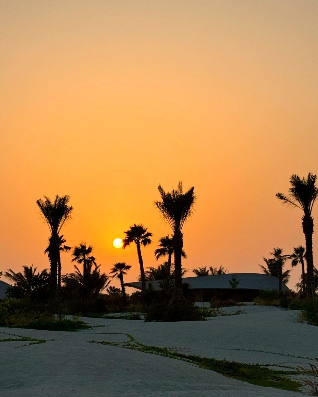
MULTIPOLYGON (((318 173, 316 1, 0 5, 0 270, 49 267, 35 201, 58 194, 75 208, 67 244, 93 245, 106 273, 131 264, 125 281, 136 281, 136 248, 112 241, 142 223, 153 233, 144 265, 157 266, 171 232, 157 187, 180 180, 197 196, 187 276, 206 265, 258 273, 273 247, 304 245, 301 211, 275 193, 293 173, 318 173)), ((318 233, 313 243, 317 262, 318 233)))

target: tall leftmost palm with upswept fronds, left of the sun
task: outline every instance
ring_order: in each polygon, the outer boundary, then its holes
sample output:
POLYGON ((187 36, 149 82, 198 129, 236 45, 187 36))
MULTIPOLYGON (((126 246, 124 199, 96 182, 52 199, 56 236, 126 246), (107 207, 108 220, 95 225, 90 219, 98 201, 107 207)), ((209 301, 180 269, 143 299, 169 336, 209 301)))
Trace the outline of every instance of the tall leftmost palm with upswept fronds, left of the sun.
POLYGON ((50 289, 51 294, 56 294, 58 284, 58 262, 60 257, 60 231, 66 221, 72 218, 73 207, 68 205, 70 196, 56 195, 54 201, 44 196, 45 200, 39 198, 36 201, 50 230, 49 244, 45 250, 50 260, 50 289))

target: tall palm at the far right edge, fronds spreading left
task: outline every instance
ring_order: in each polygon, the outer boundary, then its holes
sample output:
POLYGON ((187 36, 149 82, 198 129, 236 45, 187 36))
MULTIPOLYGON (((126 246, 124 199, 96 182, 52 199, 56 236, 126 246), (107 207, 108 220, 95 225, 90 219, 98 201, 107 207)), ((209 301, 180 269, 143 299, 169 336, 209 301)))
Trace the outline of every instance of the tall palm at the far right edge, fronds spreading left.
POLYGON ((314 219, 311 216, 312 207, 318 196, 318 188, 316 187, 317 175, 308 173, 307 177, 302 179, 294 174, 289 179, 291 187, 289 194, 279 192, 276 197, 291 207, 300 208, 302 215, 302 231, 305 236, 306 243, 306 262, 307 262, 307 285, 306 293, 311 293, 314 298, 315 280, 314 280, 314 258, 312 256, 312 234, 314 233, 314 219))

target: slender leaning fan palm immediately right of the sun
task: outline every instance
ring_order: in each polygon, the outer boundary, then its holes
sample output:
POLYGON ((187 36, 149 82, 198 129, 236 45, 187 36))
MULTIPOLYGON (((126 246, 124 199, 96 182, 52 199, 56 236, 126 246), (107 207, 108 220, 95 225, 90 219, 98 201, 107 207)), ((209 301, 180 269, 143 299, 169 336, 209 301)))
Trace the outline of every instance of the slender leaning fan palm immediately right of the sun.
POLYGON ((131 243, 136 244, 138 261, 140 266, 140 278, 142 281, 142 293, 144 293, 146 290, 146 279, 145 279, 145 271, 143 269, 142 251, 140 247, 141 245, 143 245, 143 247, 146 247, 146 245, 151 244, 150 237, 152 237, 152 233, 150 233, 147 230, 148 230, 147 227, 143 227, 142 224, 138 224, 138 225, 134 224, 133 226, 130 226, 130 229, 124 231, 126 237, 122 240, 123 249, 129 247, 131 243))

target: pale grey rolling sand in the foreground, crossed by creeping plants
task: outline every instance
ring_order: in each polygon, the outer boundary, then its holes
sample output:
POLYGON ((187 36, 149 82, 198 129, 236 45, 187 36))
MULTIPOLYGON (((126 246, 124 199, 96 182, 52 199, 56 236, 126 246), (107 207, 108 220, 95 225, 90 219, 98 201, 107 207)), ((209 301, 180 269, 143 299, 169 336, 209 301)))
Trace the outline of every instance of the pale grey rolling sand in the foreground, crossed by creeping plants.
MULTIPOLYGON (((144 323, 83 318, 102 325, 80 332, 0 328, 46 343, 0 343, 0 395, 3 397, 190 397, 300 396, 258 387, 173 358, 98 343, 126 341, 129 333, 146 345, 249 363, 308 366, 318 357, 318 328, 294 322, 295 312, 242 306, 244 314, 203 322, 144 323), (294 357, 296 356, 296 357, 294 357)), ((227 312, 236 311, 226 308, 227 312)), ((287 368, 286 368, 287 370, 287 368)))

